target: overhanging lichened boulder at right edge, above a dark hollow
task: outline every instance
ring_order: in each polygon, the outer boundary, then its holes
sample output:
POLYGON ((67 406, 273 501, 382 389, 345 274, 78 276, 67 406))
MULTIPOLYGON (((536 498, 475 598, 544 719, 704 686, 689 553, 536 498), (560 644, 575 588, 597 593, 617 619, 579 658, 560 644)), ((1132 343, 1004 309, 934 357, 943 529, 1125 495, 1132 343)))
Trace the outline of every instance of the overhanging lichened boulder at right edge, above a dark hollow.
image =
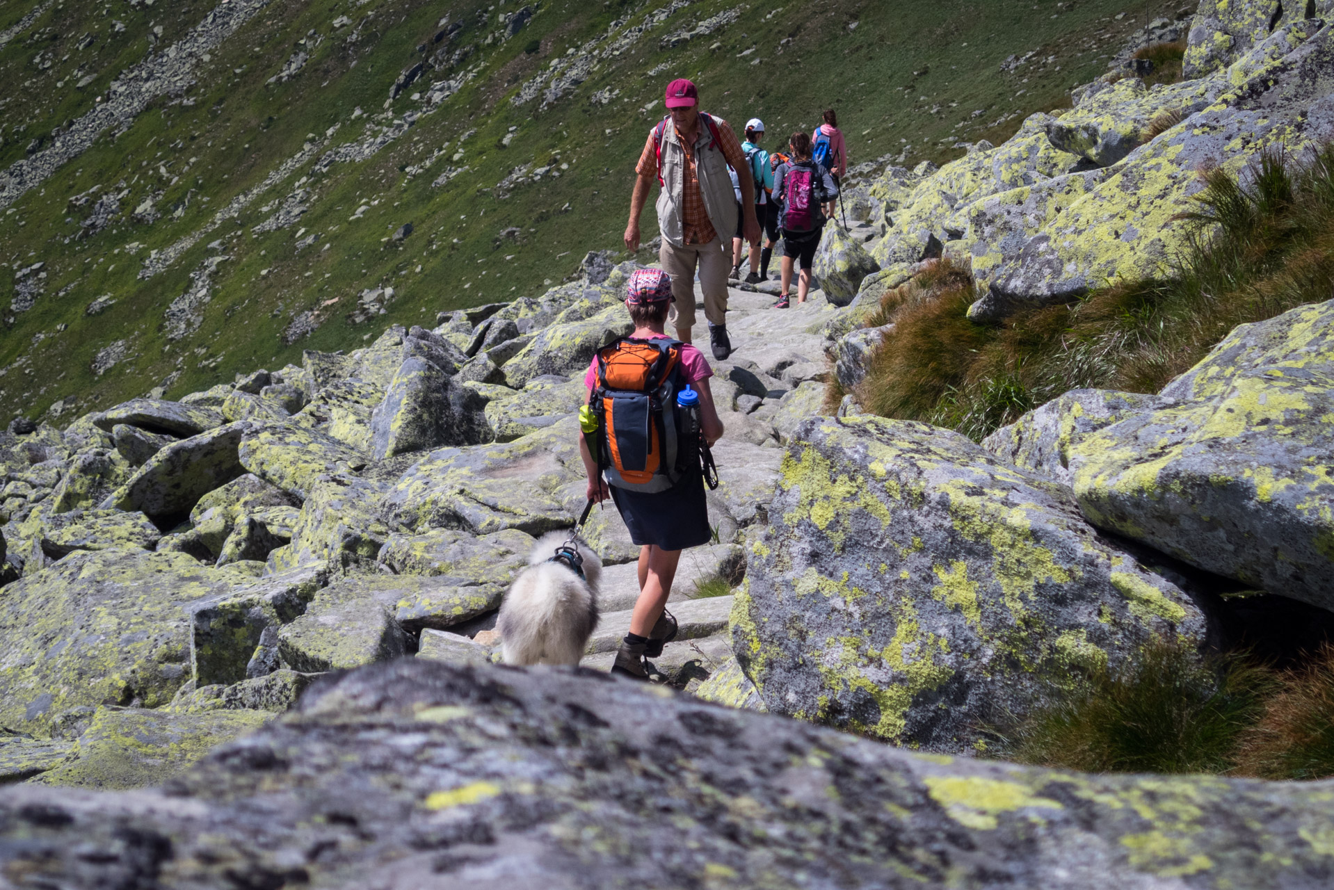
POLYGON ((1161 398, 1070 446, 1090 522, 1334 608, 1334 300, 1238 327, 1161 398))

